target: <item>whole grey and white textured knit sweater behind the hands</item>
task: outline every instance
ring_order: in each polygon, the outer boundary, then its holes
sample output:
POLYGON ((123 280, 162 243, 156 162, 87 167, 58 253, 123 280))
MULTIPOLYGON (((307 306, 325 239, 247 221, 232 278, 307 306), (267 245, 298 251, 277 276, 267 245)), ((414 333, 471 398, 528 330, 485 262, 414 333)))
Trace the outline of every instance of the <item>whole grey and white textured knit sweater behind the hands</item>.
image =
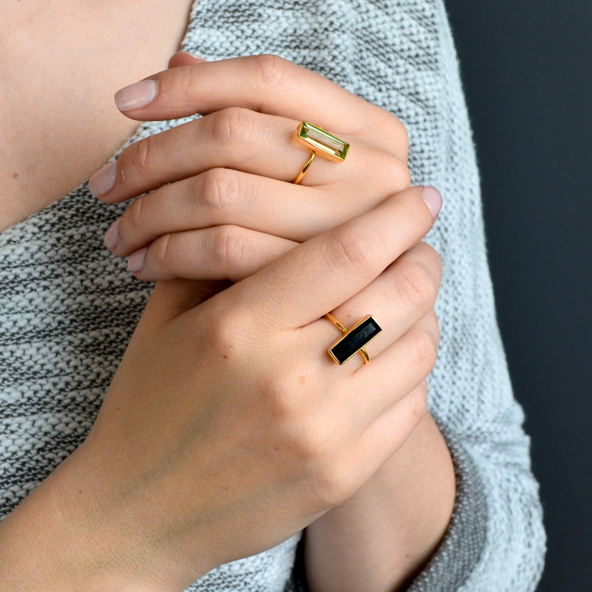
MULTIPOLYGON (((545 549, 538 485, 494 314, 477 167, 442 2, 197 1, 182 49, 208 59, 280 54, 406 124, 414 184, 444 195, 428 237, 443 260, 429 406, 458 480, 445 540, 410 591, 534 590, 545 549)), ((144 124, 131 140, 176 123, 144 124)), ((0 517, 85 438, 150 295, 152 285, 102 243, 124 207, 95 200, 85 184, 0 234, 0 517)), ((303 590, 298 562, 291 576, 297 542, 217 568, 190 590, 303 590)))

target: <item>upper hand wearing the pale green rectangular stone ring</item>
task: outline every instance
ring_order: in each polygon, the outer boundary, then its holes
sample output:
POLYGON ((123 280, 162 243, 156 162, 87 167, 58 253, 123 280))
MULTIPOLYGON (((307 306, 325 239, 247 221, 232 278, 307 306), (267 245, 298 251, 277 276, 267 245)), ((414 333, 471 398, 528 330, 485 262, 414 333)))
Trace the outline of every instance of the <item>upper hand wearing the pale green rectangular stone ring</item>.
POLYGON ((276 56, 191 61, 176 54, 118 102, 138 120, 205 116, 132 144, 91 179, 107 202, 151 191, 106 240, 131 255, 140 279, 237 281, 409 186, 407 133, 394 115, 276 56), (140 91, 156 96, 123 105, 140 91), (343 163, 317 157, 294 185, 308 158, 293 140, 303 119, 351 148, 343 163))

